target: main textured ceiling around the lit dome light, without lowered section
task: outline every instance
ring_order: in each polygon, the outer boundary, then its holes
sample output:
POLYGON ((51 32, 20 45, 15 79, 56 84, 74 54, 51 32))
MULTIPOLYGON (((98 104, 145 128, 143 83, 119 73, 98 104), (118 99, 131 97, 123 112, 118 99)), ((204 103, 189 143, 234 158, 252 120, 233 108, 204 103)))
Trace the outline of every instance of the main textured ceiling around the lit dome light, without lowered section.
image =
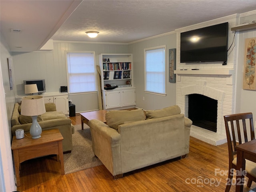
POLYGON ((130 43, 255 8, 256 0, 84 0, 52 39, 130 43))

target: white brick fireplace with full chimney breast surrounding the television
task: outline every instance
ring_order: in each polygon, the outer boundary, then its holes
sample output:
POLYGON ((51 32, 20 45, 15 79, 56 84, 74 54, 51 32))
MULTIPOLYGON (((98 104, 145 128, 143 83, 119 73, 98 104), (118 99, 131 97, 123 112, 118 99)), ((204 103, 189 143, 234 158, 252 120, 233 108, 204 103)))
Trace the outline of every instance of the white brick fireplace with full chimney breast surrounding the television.
MULTIPOLYGON (((227 64, 222 62, 198 62, 180 63, 180 32, 194 30, 213 24, 228 22, 229 29, 236 26, 236 18, 230 17, 225 20, 212 20, 186 28, 176 30, 176 104, 180 106, 181 112, 188 117, 188 95, 200 94, 213 100, 217 100, 217 130, 216 132, 206 130, 192 125, 190 136, 213 145, 226 143, 226 130, 224 115, 235 112, 236 102, 236 62, 237 47, 228 51, 227 64)), ((232 45, 234 32, 229 30, 228 47, 232 45)))

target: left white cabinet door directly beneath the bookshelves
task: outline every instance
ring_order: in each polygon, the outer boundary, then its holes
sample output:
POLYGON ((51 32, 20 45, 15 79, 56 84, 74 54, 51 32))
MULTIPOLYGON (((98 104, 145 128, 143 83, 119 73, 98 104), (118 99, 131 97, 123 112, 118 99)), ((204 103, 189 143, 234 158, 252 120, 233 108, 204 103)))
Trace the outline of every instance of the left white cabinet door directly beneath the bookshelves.
POLYGON ((121 107, 120 91, 106 92, 106 109, 121 107))

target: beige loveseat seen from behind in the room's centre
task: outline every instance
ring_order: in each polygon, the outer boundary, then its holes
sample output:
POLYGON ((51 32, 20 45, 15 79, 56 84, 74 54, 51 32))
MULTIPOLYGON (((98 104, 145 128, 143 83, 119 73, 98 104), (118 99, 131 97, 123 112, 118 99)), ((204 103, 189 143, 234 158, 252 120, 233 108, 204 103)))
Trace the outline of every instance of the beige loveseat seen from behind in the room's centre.
POLYGON ((94 154, 114 178, 189 152, 192 121, 179 106, 161 110, 112 110, 106 122, 90 120, 94 154), (145 115, 146 116, 145 116, 145 115))

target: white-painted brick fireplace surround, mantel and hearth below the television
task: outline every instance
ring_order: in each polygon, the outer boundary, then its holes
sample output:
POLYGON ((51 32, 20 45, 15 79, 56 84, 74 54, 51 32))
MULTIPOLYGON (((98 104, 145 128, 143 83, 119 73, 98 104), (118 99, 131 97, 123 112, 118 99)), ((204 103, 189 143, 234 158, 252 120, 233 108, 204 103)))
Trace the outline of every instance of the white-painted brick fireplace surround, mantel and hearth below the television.
POLYGON ((234 111, 234 70, 176 70, 176 104, 188 117, 188 95, 201 94, 217 100, 217 132, 192 125, 190 135, 213 145, 226 142, 223 116, 234 111))

